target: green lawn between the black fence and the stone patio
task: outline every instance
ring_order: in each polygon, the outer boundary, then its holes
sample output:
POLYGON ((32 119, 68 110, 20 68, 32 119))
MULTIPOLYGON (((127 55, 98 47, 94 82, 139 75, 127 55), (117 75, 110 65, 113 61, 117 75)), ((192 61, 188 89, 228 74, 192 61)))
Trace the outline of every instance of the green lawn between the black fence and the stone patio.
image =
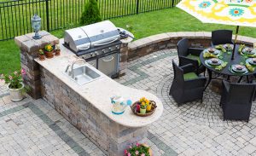
MULTIPOLYGON (((180 9, 163 9, 145 14, 137 14, 111 20, 116 26, 133 27, 135 37, 144 38, 162 32, 208 31, 216 29, 232 29, 236 26, 202 24, 201 21, 180 9)), ((56 37, 63 37, 63 30, 51 32, 56 37)), ((241 27, 240 35, 256 38, 256 28, 241 27)), ((20 68, 19 49, 14 40, 0 42, 0 73, 20 68)))

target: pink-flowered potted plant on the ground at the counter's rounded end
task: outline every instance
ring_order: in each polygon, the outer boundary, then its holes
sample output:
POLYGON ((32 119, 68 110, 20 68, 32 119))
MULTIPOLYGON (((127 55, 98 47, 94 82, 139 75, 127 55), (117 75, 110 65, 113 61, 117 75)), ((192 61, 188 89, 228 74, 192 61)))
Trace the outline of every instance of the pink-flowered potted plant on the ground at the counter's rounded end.
POLYGON ((136 143, 134 146, 130 146, 125 150, 125 156, 153 156, 153 152, 146 144, 136 143))

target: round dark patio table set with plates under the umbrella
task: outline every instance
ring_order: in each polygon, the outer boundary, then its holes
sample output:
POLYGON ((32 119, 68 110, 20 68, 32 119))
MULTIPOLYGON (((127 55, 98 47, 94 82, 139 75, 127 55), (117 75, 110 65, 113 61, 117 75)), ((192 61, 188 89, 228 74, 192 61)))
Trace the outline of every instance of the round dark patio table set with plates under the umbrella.
MULTIPOLYGON (((212 47, 211 47, 212 48, 212 47)), ((248 76, 249 75, 253 75, 256 73, 256 70, 254 70, 253 72, 247 72, 247 73, 234 73, 234 72, 230 72, 230 66, 231 65, 238 65, 238 64, 242 64, 243 65, 246 65, 246 60, 247 56, 244 56, 244 55, 240 55, 239 52, 238 52, 238 48, 239 48, 239 45, 236 45, 236 49, 235 49, 235 55, 234 55, 234 60, 231 60, 231 55, 232 55, 232 51, 227 51, 227 52, 220 52, 222 55, 221 55, 221 59, 222 61, 225 61, 227 62, 227 66, 225 66, 222 70, 216 70, 214 67, 211 67, 211 66, 207 66, 206 64, 206 60, 210 59, 210 58, 204 58, 203 55, 204 53, 202 52, 201 55, 200 55, 200 61, 202 63, 203 66, 206 66, 207 68, 207 72, 209 74, 209 78, 207 79, 207 84, 206 84, 206 87, 205 87, 205 90, 207 89, 207 86, 211 83, 212 81, 212 72, 216 72, 218 73, 219 75, 227 75, 228 78, 230 78, 230 76, 236 76, 236 77, 240 77, 238 82, 240 83, 241 82, 241 78, 243 78, 244 76, 247 76, 247 82, 248 82, 248 76)))

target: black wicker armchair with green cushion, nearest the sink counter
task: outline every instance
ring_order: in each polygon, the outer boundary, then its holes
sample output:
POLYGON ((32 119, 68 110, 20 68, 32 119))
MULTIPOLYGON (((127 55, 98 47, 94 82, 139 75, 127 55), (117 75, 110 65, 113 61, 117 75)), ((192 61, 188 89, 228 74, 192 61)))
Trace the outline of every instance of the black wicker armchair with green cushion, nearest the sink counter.
POLYGON ((172 60, 172 66, 174 78, 169 95, 172 95, 177 105, 197 99, 202 101, 207 78, 196 74, 195 66, 192 64, 177 66, 172 60))

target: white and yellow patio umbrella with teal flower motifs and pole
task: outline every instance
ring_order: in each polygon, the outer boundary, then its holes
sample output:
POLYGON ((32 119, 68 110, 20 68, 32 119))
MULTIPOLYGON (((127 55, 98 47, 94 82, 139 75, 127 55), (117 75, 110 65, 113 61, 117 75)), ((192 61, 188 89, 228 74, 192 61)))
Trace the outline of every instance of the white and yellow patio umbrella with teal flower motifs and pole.
MULTIPOLYGON (((236 40, 239 26, 256 27, 256 0, 182 0, 177 4, 203 23, 236 26, 236 40)), ((234 59, 235 48, 232 53, 234 59)))

